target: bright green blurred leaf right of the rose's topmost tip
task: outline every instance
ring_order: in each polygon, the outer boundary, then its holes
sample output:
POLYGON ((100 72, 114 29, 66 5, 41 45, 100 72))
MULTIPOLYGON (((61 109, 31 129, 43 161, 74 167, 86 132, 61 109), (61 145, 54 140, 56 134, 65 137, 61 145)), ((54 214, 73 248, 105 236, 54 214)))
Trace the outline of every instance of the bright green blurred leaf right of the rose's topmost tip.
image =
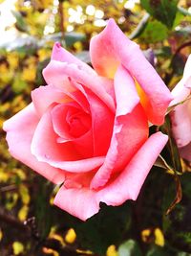
POLYGON ((168 36, 168 30, 161 22, 154 20, 148 23, 140 39, 148 43, 156 43, 168 36))

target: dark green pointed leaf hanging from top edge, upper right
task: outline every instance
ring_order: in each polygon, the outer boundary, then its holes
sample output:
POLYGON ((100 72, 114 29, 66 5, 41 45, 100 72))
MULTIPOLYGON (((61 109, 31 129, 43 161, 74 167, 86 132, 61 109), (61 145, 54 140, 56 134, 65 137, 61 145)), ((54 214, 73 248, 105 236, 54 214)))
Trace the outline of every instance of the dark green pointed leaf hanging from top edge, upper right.
POLYGON ((142 7, 169 29, 178 11, 178 0, 140 0, 142 7))

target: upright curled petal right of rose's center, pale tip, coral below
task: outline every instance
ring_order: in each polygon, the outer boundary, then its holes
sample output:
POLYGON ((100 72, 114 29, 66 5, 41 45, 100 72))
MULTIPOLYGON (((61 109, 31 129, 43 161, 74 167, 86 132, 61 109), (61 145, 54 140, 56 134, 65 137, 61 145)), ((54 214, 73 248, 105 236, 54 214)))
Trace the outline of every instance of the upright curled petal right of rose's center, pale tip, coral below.
POLYGON ((148 138, 148 122, 139 105, 135 82, 122 66, 115 76, 115 91, 117 116, 113 136, 105 162, 91 182, 94 189, 104 186, 112 173, 124 168, 148 138))

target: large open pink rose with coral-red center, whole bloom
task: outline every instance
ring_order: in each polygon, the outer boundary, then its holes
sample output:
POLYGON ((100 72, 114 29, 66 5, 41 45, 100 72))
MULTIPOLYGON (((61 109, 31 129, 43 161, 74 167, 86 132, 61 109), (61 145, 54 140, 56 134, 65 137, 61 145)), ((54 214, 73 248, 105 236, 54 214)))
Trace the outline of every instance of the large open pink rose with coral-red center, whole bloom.
POLYGON ((91 40, 93 70, 53 46, 46 86, 4 124, 11 154, 61 184, 54 204, 85 221, 99 202, 119 205, 139 190, 167 142, 149 136, 171 94, 135 42, 110 19, 91 40))

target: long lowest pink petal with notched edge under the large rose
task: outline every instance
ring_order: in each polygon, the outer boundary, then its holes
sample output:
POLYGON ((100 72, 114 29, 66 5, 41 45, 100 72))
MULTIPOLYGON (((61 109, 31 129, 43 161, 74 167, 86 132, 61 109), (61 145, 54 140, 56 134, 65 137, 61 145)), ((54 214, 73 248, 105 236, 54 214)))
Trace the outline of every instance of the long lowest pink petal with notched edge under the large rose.
POLYGON ((146 176, 167 140, 168 137, 161 132, 152 135, 121 175, 102 190, 96 192, 85 187, 67 189, 63 185, 53 203, 80 220, 86 221, 98 212, 100 201, 117 206, 127 199, 137 199, 146 176))

